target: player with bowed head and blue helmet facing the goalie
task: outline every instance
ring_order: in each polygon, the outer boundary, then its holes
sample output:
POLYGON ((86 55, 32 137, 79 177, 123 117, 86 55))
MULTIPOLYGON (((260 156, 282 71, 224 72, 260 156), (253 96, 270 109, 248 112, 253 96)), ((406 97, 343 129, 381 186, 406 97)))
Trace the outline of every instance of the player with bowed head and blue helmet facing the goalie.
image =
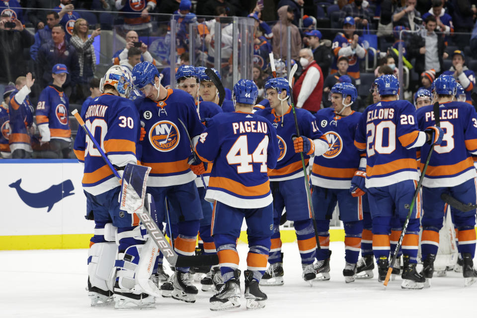
MULTIPOLYGON (((152 168, 147 191, 157 202, 156 222, 164 220, 167 197, 172 207, 171 219, 178 226, 174 249, 180 255, 194 255, 199 220, 203 218, 194 180, 205 169, 202 161, 192 156, 188 138, 195 144, 204 125, 199 120, 194 98, 183 90, 164 88, 152 63, 137 64, 132 76, 134 85, 145 96, 139 102, 146 130, 141 143, 141 164, 152 168)), ((195 302, 198 290, 191 283, 189 267, 176 267, 174 274, 172 298, 195 302)))

